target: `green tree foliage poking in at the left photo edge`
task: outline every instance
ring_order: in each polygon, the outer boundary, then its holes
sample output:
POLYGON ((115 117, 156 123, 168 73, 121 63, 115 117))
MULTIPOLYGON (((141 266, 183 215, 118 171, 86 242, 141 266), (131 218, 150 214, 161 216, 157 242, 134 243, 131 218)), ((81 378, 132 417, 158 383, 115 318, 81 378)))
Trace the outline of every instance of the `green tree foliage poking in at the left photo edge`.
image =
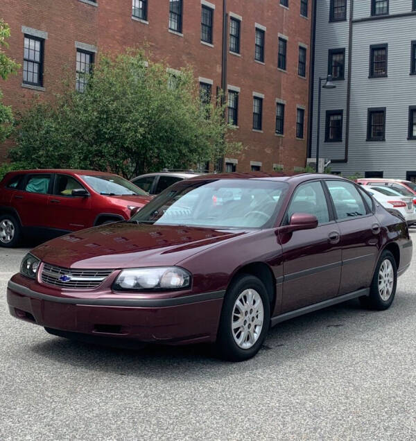
MULTIPOLYGON (((10 28, 8 24, 0 18, 0 77, 7 80, 11 74, 16 74, 20 65, 9 58, 3 49, 8 49, 6 39, 10 37, 10 28)), ((12 131, 13 114, 10 106, 1 103, 3 93, 0 89, 0 143, 3 142, 12 131)))

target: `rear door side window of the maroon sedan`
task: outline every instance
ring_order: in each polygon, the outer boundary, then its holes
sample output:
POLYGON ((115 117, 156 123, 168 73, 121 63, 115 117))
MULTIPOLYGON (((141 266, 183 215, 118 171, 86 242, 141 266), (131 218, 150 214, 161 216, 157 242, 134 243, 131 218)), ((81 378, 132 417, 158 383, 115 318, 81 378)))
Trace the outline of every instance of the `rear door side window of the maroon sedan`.
POLYGON ((326 182, 338 219, 349 219, 367 214, 363 198, 354 184, 343 181, 326 182))

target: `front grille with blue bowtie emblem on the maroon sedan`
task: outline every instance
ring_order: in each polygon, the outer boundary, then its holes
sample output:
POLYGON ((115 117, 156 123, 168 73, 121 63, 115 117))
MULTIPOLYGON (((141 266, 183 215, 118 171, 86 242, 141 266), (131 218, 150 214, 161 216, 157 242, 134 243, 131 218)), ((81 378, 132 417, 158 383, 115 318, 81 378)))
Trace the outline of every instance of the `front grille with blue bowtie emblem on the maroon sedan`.
POLYGON ((100 286, 112 270, 69 270, 44 263, 42 282, 60 288, 92 289, 100 286))

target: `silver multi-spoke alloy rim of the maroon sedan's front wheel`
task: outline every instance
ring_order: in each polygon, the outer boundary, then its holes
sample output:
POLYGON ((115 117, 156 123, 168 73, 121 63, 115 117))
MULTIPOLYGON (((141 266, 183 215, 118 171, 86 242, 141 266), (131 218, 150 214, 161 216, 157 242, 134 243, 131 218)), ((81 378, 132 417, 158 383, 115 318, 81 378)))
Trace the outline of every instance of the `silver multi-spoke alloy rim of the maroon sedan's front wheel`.
POLYGON ((232 312, 232 335, 241 349, 250 349, 263 329, 264 308, 259 293, 245 289, 234 303, 232 312))

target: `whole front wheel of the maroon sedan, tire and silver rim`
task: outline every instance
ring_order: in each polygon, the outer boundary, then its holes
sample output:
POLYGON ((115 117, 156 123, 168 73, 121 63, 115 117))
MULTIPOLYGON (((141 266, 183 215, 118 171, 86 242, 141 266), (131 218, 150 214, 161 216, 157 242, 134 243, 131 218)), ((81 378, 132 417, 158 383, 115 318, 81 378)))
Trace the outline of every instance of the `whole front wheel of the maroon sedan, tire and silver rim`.
POLYGON ((229 286, 218 328, 221 358, 245 361, 259 352, 270 325, 270 301, 263 283, 240 275, 229 286))

